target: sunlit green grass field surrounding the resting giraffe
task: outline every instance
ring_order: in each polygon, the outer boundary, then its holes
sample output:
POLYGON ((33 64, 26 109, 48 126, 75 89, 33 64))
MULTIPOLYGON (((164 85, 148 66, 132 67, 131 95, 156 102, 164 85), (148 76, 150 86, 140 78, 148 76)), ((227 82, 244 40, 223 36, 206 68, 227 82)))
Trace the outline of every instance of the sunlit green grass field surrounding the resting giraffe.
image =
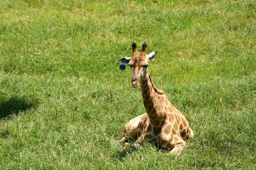
POLYGON ((255 0, 1 0, 0 169, 256 169, 255 0), (123 151, 131 43, 195 136, 123 151))

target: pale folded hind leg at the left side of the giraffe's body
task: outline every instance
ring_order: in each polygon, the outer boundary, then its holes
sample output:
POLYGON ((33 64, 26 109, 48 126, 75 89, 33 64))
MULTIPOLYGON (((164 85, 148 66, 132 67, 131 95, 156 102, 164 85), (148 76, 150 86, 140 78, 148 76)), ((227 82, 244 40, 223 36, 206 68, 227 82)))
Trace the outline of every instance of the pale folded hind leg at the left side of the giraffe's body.
MULTIPOLYGON (((144 114, 146 114, 146 113, 144 113, 144 114)), ((128 141, 130 138, 137 135, 137 127, 138 127, 138 124, 139 124, 141 118, 143 117, 143 115, 137 116, 134 119, 131 119, 129 122, 126 123, 126 125, 123 129, 123 138, 121 140, 119 140, 118 142, 128 141)), ((124 144, 125 146, 128 145, 126 143, 124 144)))

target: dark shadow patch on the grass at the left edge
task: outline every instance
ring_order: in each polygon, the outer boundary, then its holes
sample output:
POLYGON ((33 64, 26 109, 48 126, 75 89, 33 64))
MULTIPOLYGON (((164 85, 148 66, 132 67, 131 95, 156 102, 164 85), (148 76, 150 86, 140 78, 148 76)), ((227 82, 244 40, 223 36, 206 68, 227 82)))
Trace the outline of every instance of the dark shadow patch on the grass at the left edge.
POLYGON ((13 115, 18 115, 24 111, 32 110, 38 105, 35 97, 11 96, 0 99, 0 120, 9 119, 13 115))

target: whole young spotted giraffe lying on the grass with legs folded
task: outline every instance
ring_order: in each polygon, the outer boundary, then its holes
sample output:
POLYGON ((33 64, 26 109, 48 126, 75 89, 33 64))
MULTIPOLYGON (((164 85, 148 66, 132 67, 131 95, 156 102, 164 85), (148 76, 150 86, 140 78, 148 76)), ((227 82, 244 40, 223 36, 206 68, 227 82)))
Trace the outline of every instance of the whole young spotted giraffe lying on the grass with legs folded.
MULTIPOLYGON (((186 117, 172 106, 163 91, 158 90, 148 73, 148 62, 153 61, 157 51, 146 54, 147 44, 144 42, 142 51, 137 51, 137 45, 132 43, 133 57, 123 57, 117 62, 130 65, 132 69, 131 87, 141 86, 143 103, 146 113, 131 119, 123 129, 123 138, 119 142, 128 141, 136 136, 135 147, 147 140, 159 147, 178 153, 186 145, 185 140, 190 139, 194 133, 189 127, 186 117)), ((125 142, 128 147, 128 142, 125 142)))

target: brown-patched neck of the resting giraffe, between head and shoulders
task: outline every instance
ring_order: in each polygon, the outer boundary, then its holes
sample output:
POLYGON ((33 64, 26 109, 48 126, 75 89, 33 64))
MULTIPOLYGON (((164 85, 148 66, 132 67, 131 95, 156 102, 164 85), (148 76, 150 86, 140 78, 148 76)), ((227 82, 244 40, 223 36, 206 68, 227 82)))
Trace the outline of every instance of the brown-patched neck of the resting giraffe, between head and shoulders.
POLYGON ((153 126, 160 126, 160 122, 163 119, 163 102, 165 102, 166 95, 154 86, 148 71, 145 76, 140 77, 140 86, 148 118, 153 126))

